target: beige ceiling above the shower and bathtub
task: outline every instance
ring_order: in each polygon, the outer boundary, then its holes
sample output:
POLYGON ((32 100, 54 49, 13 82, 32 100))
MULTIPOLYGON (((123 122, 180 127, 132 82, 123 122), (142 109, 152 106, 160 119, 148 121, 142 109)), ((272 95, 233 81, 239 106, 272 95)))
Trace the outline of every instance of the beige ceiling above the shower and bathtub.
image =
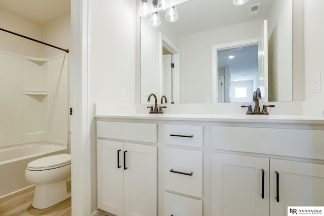
POLYGON ((70 0, 0 0, 0 8, 44 24, 71 10, 70 0))

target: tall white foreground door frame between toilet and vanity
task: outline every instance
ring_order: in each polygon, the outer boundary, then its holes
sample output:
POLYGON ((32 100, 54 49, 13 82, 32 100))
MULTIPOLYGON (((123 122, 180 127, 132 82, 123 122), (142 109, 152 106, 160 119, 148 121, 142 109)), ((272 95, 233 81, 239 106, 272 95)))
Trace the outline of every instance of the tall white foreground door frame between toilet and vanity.
POLYGON ((88 91, 88 0, 71 0, 70 105, 72 215, 91 209, 91 105, 88 91))

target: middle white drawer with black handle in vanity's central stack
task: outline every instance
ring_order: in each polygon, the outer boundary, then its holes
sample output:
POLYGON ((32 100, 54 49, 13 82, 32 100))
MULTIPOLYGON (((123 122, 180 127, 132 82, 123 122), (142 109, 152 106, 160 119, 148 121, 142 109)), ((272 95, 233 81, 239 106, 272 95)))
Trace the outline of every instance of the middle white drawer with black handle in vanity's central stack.
POLYGON ((166 147, 164 186, 166 190, 203 197, 203 151, 166 147))

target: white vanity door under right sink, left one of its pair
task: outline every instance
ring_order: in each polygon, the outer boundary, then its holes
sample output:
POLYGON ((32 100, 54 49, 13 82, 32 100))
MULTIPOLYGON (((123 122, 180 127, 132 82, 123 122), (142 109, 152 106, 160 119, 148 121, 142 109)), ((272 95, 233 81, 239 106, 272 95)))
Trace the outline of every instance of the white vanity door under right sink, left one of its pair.
POLYGON ((269 158, 213 153, 212 215, 268 216, 268 174, 269 158))

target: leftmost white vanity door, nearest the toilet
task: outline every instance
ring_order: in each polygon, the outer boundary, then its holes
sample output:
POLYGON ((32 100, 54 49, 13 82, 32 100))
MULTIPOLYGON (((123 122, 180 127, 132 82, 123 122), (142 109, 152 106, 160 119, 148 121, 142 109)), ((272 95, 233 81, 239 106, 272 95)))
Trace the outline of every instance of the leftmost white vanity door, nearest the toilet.
POLYGON ((123 152, 123 142, 97 140, 98 208, 117 216, 124 215, 123 152))

